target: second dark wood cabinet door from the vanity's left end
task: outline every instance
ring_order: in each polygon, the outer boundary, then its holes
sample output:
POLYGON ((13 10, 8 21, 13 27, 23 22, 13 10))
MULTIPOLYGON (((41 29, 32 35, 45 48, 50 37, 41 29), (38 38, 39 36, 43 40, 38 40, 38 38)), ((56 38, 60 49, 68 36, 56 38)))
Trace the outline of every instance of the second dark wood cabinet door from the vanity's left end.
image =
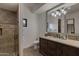
POLYGON ((48 41, 48 50, 47 50, 47 54, 49 56, 56 56, 56 42, 53 41, 48 41))

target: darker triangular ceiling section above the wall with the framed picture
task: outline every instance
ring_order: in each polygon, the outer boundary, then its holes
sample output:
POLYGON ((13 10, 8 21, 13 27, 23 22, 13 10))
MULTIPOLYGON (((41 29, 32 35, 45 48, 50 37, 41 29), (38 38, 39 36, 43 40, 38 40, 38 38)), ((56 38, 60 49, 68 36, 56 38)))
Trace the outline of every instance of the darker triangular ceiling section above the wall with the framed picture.
POLYGON ((43 6, 45 3, 26 3, 25 5, 32 11, 36 11, 41 6, 43 6))

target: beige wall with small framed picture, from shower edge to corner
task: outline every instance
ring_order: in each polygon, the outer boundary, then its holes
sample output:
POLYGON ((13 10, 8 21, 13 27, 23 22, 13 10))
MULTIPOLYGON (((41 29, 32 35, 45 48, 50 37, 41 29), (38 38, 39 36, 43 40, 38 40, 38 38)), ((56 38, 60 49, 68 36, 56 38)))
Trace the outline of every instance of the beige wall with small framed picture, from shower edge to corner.
POLYGON ((20 48, 28 48, 33 45, 37 38, 37 19, 36 14, 32 13, 26 5, 20 4, 20 48), (27 19, 27 27, 23 27, 22 20, 27 19))

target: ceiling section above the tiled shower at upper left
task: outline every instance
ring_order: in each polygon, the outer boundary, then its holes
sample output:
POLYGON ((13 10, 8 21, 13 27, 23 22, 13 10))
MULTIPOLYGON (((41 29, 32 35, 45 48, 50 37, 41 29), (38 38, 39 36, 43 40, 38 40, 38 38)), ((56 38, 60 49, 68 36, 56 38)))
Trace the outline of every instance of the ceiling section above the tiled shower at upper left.
POLYGON ((18 9, 18 4, 17 3, 0 3, 0 8, 16 12, 18 9))

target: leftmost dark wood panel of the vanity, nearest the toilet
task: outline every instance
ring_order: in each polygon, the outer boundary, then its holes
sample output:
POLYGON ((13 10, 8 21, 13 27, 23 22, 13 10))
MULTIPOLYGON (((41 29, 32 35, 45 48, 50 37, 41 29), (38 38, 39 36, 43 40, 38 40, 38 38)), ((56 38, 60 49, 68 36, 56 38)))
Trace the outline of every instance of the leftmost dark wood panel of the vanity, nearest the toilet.
POLYGON ((39 45, 39 52, 43 55, 47 55, 47 40, 40 38, 39 45))

